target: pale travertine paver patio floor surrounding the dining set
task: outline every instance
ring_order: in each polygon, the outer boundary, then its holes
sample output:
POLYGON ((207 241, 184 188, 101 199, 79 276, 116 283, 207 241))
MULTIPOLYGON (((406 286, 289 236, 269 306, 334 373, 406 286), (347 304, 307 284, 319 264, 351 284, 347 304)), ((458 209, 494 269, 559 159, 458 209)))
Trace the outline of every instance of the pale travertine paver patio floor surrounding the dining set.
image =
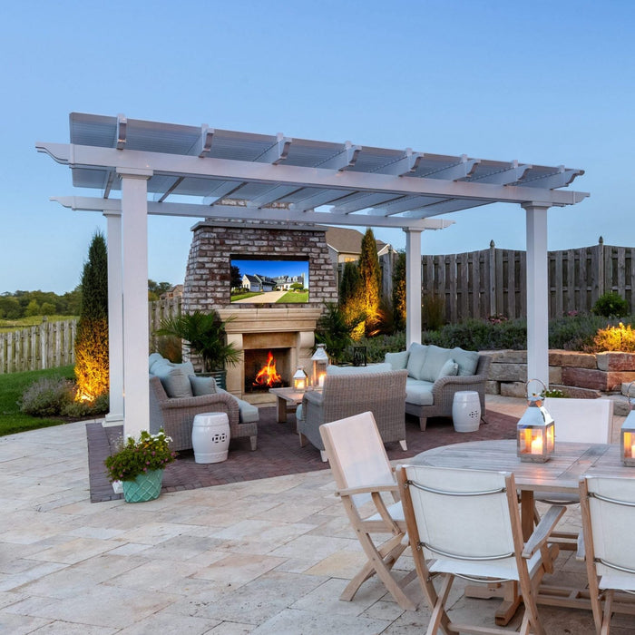
MULTIPOLYGON (((519 414, 523 400, 488 396, 488 407, 519 414)), ((423 604, 402 611, 376 581, 337 600, 363 555, 328 470, 90 503, 84 426, 0 438, 0 632, 418 635, 426 626, 423 604)), ((579 524, 575 510, 567 519, 579 524)), ((569 554, 556 575, 584 580, 569 554)), ((416 582, 409 591, 421 599, 416 582)), ((453 611, 491 624, 496 603, 466 600, 459 587, 453 611)), ((541 613, 550 635, 593 632, 589 611, 541 613)), ((614 618, 611 632, 633 630, 632 616, 614 618)))

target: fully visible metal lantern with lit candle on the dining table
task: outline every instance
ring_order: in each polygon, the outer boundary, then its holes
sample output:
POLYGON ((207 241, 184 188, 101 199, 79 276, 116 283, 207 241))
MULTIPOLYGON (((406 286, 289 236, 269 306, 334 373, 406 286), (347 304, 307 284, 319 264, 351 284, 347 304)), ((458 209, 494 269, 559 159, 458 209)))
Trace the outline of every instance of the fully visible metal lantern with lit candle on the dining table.
MULTIPOLYGON (((540 379, 530 379, 542 384, 540 379)), ((542 384, 543 390, 546 386, 542 384)), ((555 424, 546 408, 542 405, 542 396, 529 395, 527 392, 527 410, 516 426, 516 451, 521 461, 545 463, 552 457, 555 448, 555 424)))

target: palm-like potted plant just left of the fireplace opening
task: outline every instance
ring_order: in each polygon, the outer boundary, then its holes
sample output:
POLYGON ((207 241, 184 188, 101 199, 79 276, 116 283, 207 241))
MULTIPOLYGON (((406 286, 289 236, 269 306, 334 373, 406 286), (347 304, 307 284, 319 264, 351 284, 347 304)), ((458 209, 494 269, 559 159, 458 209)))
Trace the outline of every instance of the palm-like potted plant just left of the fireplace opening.
POLYGON ((202 372, 214 376, 224 388, 225 366, 233 366, 240 360, 240 351, 228 343, 225 330, 233 319, 232 316, 223 321, 215 309, 210 313, 198 310, 181 313, 176 318, 162 320, 156 335, 180 337, 194 355, 201 357, 202 372))

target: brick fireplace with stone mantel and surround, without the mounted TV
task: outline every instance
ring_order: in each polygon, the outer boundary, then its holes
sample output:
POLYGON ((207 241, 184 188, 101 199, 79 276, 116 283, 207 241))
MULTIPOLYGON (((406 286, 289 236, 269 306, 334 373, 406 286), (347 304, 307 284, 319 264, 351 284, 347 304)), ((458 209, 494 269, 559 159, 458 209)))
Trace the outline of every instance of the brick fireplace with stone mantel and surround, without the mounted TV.
POLYGON ((239 364, 227 368, 227 389, 252 404, 273 403, 268 388, 250 386, 256 366, 271 352, 285 386, 298 366, 310 372, 318 318, 325 302, 337 301, 326 230, 315 225, 207 220, 192 231, 183 310, 215 308, 221 318, 232 318, 228 340, 242 355, 239 364), (230 304, 230 262, 240 256, 308 259, 308 302, 230 304))

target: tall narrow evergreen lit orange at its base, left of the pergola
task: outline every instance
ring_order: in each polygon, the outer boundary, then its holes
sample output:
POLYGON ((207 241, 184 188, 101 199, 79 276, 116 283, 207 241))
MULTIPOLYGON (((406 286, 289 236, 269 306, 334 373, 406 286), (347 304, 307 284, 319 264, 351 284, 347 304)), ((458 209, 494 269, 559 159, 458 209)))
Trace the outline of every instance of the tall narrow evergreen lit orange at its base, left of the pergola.
POLYGON ((108 254, 101 231, 94 234, 83 265, 82 292, 75 336, 77 399, 93 401, 109 387, 108 254))

